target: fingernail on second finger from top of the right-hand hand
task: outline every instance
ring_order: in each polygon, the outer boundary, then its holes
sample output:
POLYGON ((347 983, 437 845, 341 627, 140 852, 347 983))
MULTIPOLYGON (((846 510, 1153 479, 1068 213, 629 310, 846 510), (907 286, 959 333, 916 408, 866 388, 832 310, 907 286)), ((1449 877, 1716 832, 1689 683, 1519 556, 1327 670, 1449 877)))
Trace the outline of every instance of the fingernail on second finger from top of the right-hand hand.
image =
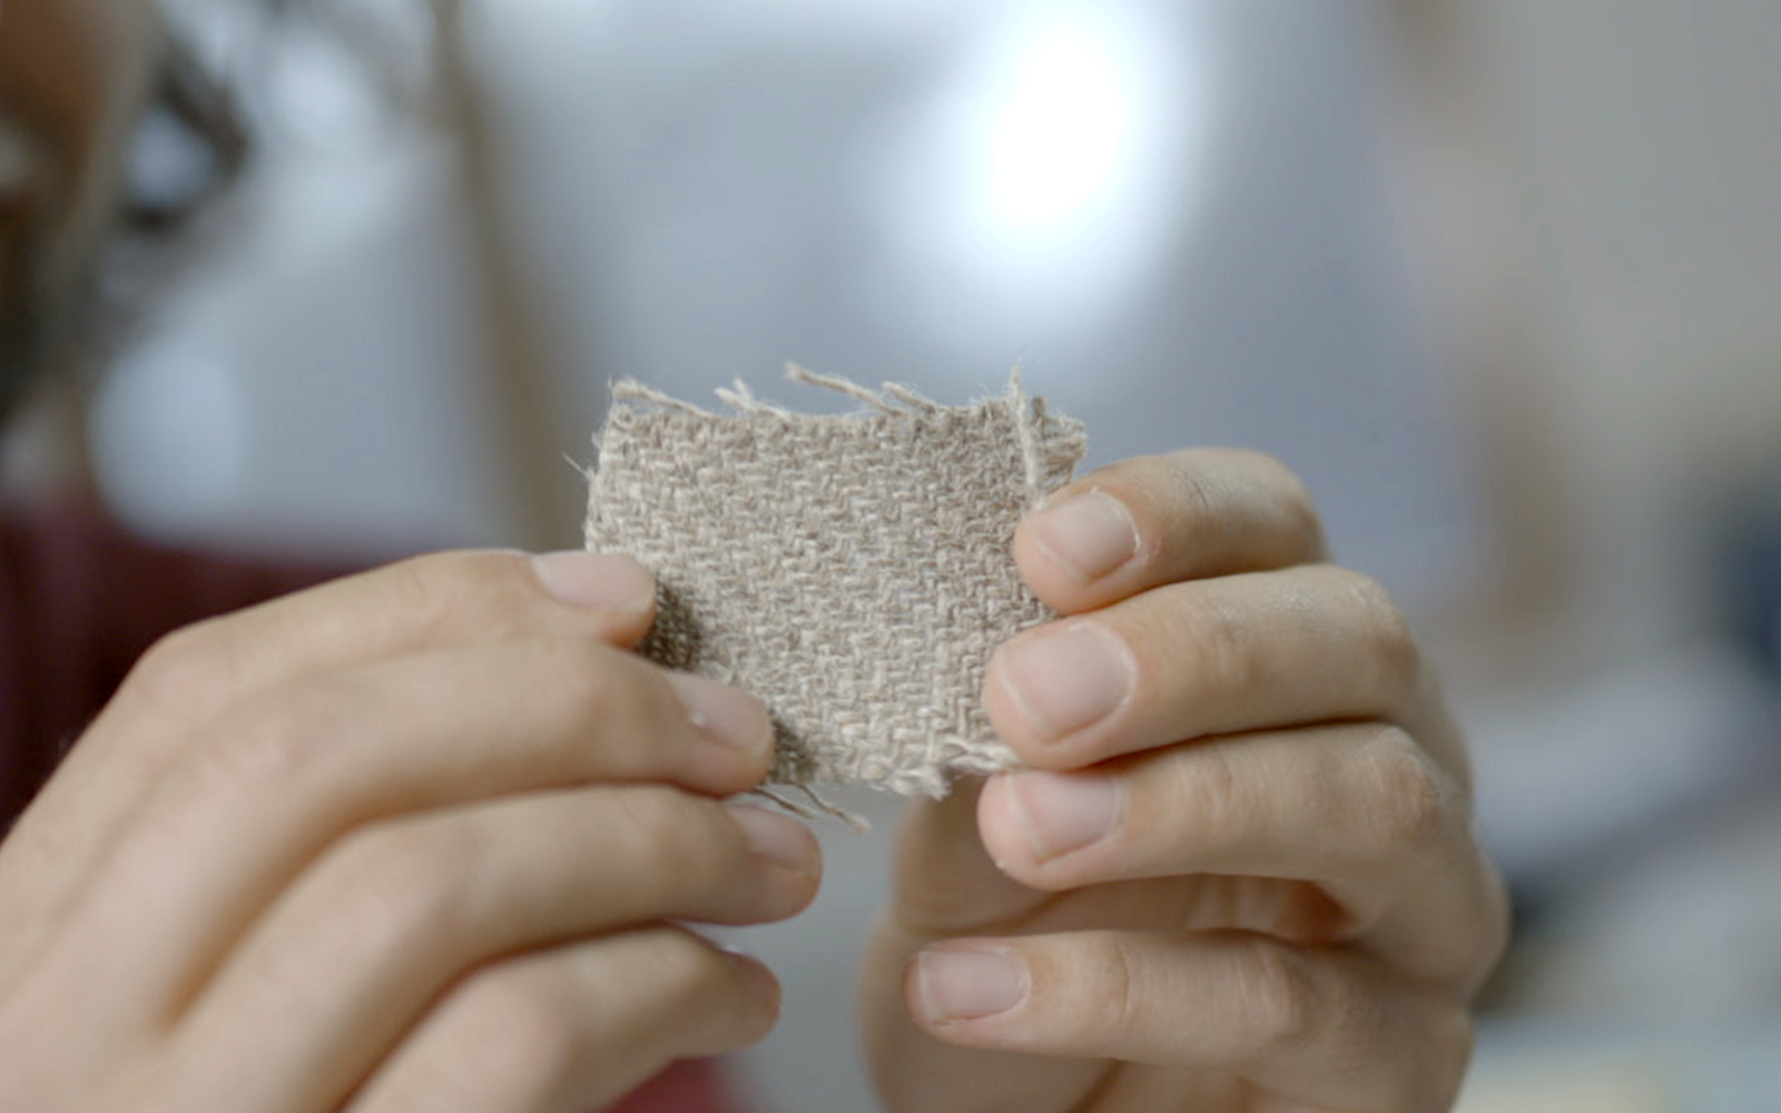
POLYGON ((1136 670, 1126 645, 1094 621, 1017 638, 994 668, 1017 709, 1051 741, 1113 714, 1136 670))

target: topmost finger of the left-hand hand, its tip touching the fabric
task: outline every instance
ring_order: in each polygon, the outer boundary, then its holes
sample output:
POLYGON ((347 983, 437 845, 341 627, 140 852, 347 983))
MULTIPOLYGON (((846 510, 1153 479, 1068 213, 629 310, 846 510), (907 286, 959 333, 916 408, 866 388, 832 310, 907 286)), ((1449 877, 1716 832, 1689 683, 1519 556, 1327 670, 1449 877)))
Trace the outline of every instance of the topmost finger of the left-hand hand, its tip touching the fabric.
MULTIPOLYGON (((16 965, 66 914, 118 825, 194 730, 256 693, 427 646, 520 636, 639 639, 648 573, 623 557, 454 552, 419 557, 189 627, 157 645, 9 835, 0 906, 16 965)), ((5 971, 0 969, 0 978, 5 971)))

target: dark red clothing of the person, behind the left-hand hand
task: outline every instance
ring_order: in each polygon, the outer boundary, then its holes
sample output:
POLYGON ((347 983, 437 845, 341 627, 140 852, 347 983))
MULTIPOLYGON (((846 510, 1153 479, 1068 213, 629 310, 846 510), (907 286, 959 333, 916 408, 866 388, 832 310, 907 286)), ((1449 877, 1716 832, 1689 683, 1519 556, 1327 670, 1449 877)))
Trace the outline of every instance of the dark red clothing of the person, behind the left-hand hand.
MULTIPOLYGON (((326 575, 146 545, 78 509, 0 513, 0 832, 157 638, 326 575)), ((709 1065, 686 1063, 618 1109, 734 1106, 709 1065)))

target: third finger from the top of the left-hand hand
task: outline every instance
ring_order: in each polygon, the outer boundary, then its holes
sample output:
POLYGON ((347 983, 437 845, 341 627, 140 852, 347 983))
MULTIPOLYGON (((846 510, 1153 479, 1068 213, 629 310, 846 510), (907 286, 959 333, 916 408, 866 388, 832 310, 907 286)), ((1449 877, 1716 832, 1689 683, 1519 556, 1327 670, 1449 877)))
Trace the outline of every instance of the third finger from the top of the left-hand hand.
POLYGON ((335 1108, 465 971, 645 922, 784 919, 816 896, 817 873, 798 821, 664 787, 374 825, 271 908, 180 1042, 216 1056, 278 1029, 255 1054, 217 1056, 207 1093, 233 1109, 335 1108))

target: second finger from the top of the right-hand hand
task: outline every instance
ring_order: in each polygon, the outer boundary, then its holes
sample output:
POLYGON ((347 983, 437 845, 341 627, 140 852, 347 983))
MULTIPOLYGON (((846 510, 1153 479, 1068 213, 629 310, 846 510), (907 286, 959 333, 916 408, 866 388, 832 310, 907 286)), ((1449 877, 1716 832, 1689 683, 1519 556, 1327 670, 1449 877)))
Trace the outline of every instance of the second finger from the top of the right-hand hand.
POLYGON ((1423 691, 1384 589, 1311 565, 1170 584, 1026 630, 990 659, 985 705, 1022 760, 1070 769, 1213 734, 1398 721, 1423 691))

